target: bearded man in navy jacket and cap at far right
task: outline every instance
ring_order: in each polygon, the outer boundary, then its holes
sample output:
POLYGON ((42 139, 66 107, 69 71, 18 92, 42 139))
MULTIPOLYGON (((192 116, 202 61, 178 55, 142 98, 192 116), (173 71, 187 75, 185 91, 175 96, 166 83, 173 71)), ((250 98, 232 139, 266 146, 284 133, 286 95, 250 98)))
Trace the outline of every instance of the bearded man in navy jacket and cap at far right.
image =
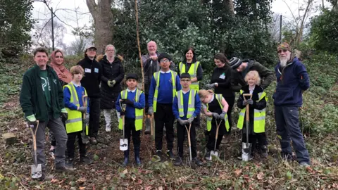
POLYGON ((302 94, 310 87, 308 72, 297 57, 292 57, 289 44, 277 47, 280 62, 275 67, 277 87, 273 94, 277 135, 280 138, 282 156, 292 159, 292 146, 300 165, 310 165, 308 150, 299 127, 299 108, 303 103, 302 94))

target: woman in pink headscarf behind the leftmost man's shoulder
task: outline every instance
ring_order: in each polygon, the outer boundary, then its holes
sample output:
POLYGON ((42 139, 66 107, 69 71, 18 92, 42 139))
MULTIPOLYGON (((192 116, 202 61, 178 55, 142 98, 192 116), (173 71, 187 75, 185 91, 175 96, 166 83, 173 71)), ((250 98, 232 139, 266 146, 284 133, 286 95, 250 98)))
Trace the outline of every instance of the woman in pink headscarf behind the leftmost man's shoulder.
MULTIPOLYGON (((72 81, 72 74, 70 74, 69 70, 65 68, 64 59, 63 59, 63 53, 61 50, 56 49, 56 51, 53 51, 51 53, 51 68, 53 68, 58 75, 58 80, 60 81, 61 86, 68 84, 72 81)), ((49 149, 49 154, 51 156, 54 156, 55 153, 55 146, 56 141, 54 139, 54 136, 52 133, 50 133, 51 138, 51 148, 49 149)))

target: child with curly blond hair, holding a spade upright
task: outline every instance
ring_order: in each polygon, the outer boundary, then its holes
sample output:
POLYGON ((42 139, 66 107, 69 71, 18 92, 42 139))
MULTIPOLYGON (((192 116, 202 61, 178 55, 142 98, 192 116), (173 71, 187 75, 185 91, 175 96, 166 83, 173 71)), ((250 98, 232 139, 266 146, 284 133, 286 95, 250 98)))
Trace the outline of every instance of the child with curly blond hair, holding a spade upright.
MULTIPOLYGON (((261 156, 266 158, 268 156, 268 141, 265 135, 265 107, 268 98, 263 88, 259 86, 261 78, 256 70, 248 72, 244 80, 248 85, 242 87, 239 99, 237 100, 237 107, 242 109, 241 113, 239 113, 237 127, 242 129, 242 142, 246 142, 245 113, 246 105, 249 104, 249 143, 252 144, 249 159, 253 158, 253 151, 257 140, 258 146, 261 149, 261 156), (247 100, 244 100, 243 94, 252 94, 252 99, 247 97, 247 100)), ((238 158, 242 160, 242 151, 238 158)))

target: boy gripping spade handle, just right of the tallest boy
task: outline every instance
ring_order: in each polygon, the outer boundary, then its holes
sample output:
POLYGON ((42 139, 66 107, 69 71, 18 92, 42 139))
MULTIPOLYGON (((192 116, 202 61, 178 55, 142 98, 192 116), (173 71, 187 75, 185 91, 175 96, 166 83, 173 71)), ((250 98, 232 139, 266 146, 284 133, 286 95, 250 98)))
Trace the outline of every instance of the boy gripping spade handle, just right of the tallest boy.
POLYGON ((189 73, 182 73, 180 84, 182 85, 182 90, 177 91, 174 102, 173 102, 173 113, 177 119, 177 152, 178 156, 175 160, 174 165, 181 165, 183 158, 183 143, 184 136, 187 129, 184 125, 192 124, 190 128, 190 141, 192 146, 192 161, 201 166, 203 163, 199 158, 197 158, 196 151, 196 116, 201 112, 201 101, 199 100, 199 94, 194 89, 190 89, 190 84, 192 84, 191 77, 189 73), (194 122, 195 121, 195 122, 194 122))

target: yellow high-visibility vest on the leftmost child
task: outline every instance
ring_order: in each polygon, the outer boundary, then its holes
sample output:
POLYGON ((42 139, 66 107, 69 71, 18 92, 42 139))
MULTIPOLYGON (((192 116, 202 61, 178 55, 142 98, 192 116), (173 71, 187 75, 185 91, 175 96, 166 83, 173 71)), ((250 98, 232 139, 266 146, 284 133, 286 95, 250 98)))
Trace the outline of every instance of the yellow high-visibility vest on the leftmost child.
MULTIPOLYGON (((74 84, 67 84, 63 86, 63 89, 65 88, 68 88, 70 91, 70 103, 80 107, 74 84)), ((86 89, 84 89, 84 94, 87 96, 86 89)), ((70 110, 70 108, 65 108, 65 110, 68 112, 68 119, 65 121, 65 131, 67 133, 82 131, 82 113, 79 110, 70 110)), ((88 134, 88 125, 86 125, 86 134, 88 134)))

